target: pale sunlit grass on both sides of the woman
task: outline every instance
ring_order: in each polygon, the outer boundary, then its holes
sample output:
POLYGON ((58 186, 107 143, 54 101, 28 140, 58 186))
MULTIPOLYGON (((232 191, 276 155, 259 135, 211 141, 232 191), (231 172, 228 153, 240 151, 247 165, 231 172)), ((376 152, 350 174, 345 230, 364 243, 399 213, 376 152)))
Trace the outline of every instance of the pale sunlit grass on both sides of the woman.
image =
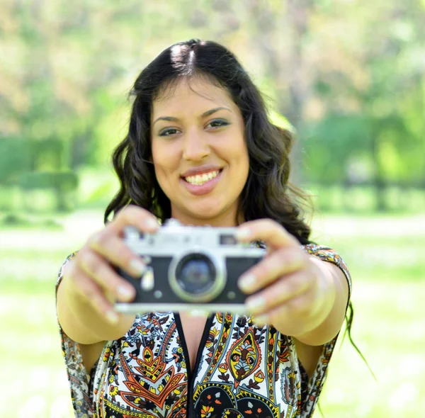
MULTIPOLYGON (((54 283, 101 218, 76 213, 57 218, 63 230, 0 230, 0 417, 73 417, 54 283)), ((425 409, 424 220, 317 214, 316 241, 335 247, 351 269, 352 335, 378 378, 348 339, 338 344, 319 402, 325 418, 419 417, 425 409)))

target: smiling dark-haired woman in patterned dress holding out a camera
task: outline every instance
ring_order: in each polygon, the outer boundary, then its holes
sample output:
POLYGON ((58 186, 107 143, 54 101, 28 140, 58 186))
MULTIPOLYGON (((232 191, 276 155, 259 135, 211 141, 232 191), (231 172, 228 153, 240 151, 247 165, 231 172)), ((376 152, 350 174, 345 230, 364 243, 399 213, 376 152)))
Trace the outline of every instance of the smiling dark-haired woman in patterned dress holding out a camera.
POLYGON ((268 120, 249 76, 213 42, 164 50, 132 95, 106 227, 57 281, 75 416, 311 417, 351 282, 334 250, 309 241, 295 203, 302 194, 288 183, 290 133, 268 120), (155 232, 169 218, 237 226, 241 242, 265 244, 263 260, 238 279, 250 316, 113 310, 135 295, 113 266, 145 271, 123 228, 155 232))

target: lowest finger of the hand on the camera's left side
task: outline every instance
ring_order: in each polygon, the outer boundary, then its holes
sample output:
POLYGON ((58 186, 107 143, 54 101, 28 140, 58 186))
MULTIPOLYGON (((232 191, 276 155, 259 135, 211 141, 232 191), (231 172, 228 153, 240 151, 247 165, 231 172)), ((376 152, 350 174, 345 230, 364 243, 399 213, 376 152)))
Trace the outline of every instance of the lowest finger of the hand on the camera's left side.
POLYGON ((119 316, 115 312, 111 301, 103 293, 100 286, 89 276, 87 276, 81 269, 74 269, 72 276, 70 276, 74 290, 82 298, 89 301, 91 306, 112 324, 118 322, 119 316))

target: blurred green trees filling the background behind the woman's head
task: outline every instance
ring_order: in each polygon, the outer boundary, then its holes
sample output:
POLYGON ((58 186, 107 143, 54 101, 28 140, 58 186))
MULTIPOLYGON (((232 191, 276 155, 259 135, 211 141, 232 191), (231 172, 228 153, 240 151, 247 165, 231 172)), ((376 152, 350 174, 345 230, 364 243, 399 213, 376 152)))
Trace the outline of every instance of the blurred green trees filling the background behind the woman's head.
POLYGON ((0 138, 14 157, 0 177, 105 164, 137 73, 196 37, 236 52, 295 128, 296 183, 373 182, 385 208, 387 184, 425 186, 424 21, 422 0, 4 0, 0 138))

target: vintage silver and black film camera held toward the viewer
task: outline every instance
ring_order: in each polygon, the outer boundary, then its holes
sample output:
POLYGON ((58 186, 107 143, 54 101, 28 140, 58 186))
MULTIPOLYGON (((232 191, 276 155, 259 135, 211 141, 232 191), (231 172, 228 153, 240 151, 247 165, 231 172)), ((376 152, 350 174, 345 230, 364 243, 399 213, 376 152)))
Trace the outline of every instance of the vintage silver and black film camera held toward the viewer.
POLYGON ((117 303, 116 310, 245 313, 246 295, 237 287, 237 279, 263 258, 265 250, 237 242, 235 230, 185 226, 176 220, 169 220, 155 234, 128 227, 125 243, 148 269, 140 278, 118 271, 135 286, 136 297, 131 303, 117 303))

